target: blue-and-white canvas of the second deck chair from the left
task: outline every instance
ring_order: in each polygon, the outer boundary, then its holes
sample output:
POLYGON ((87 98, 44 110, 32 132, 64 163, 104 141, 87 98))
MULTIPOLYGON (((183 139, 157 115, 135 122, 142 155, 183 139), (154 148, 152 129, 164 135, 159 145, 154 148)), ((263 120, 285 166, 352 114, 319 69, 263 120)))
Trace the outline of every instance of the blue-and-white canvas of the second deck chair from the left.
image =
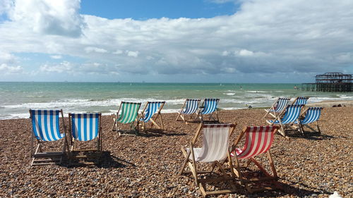
POLYGON ((71 132, 75 140, 89 141, 100 131, 100 113, 71 113, 71 132))

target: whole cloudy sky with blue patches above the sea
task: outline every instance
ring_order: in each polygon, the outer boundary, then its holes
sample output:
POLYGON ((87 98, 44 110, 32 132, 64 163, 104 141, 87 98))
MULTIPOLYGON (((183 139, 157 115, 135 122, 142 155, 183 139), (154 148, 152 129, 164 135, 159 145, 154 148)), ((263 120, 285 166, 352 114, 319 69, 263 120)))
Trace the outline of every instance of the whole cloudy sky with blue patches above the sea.
POLYGON ((353 73, 352 0, 0 0, 0 82, 353 73))

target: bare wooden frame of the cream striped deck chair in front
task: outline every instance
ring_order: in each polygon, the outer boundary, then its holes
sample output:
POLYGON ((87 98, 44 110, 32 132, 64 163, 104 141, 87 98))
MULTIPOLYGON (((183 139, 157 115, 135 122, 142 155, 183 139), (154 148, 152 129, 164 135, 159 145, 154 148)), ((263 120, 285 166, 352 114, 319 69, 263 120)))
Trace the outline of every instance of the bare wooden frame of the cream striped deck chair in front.
MULTIPOLYGON (((230 156, 230 152, 229 152, 229 147, 226 148, 227 149, 226 159, 229 161, 229 163, 227 163, 227 165, 229 167, 226 167, 226 168, 230 168, 231 176, 229 176, 226 173, 224 164, 222 165, 222 163, 220 163, 220 160, 207 161, 208 163, 212 163, 212 166, 210 167, 210 170, 208 170, 208 171, 202 171, 202 170, 197 169, 196 155, 194 152, 194 149, 196 149, 196 148, 194 147, 194 145, 196 144, 196 141, 198 140, 198 136, 201 135, 201 132, 203 131, 204 128, 227 128, 228 129, 227 130, 228 141, 229 141, 230 136, 234 132, 235 126, 236 126, 235 124, 208 124, 208 125, 205 125, 205 124, 201 123, 198 126, 198 129, 196 130, 196 134, 194 135, 193 139, 191 140, 191 143, 189 145, 189 149, 186 149, 185 147, 181 146, 181 151, 182 151, 185 159, 184 159, 184 161, 181 165, 181 168, 179 170, 179 175, 191 173, 193 175, 193 177, 195 178, 196 186, 200 187, 200 190, 201 190, 203 196, 213 195, 213 194, 234 193, 236 191, 236 187, 234 185, 235 175, 233 172, 234 168, 232 166, 232 160, 231 160, 231 156, 230 156), (191 171, 185 171, 186 165, 189 166, 191 171), (222 175, 220 175, 217 178, 200 178, 201 174, 215 173, 215 170, 216 170, 215 167, 217 167, 220 170, 222 175), (222 182, 222 181, 229 182, 231 189, 229 189, 229 190, 216 190, 216 191, 206 191, 205 190, 204 185, 206 183, 208 183, 208 182, 222 182)), ((203 142, 203 143, 205 143, 205 142, 203 142)), ((210 143, 210 144, 212 144, 212 143, 210 143)), ((224 161, 224 159, 223 159, 223 161, 224 161)), ((207 163, 207 162, 205 162, 205 163, 207 163)))

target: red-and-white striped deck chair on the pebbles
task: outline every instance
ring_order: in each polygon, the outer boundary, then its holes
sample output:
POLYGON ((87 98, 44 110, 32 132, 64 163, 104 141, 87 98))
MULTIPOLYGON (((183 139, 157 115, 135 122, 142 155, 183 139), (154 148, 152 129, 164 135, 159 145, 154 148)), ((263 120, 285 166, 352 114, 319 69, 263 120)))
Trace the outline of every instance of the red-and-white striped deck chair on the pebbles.
MULTIPOLYGON (((273 143, 273 137, 275 132, 278 130, 278 126, 251 126, 245 127, 244 130, 240 133, 237 140, 235 140, 234 144, 232 145, 232 153, 231 156, 235 159, 234 164, 234 173, 239 178, 241 184, 245 185, 246 190, 249 192, 257 192, 262 190, 274 190, 277 188, 281 188, 280 185, 276 182, 277 180, 277 172, 275 169, 275 165, 273 163, 272 156, 270 154, 270 148, 273 143), (242 149, 237 148, 239 142, 241 142, 241 138, 245 135, 245 143, 242 149), (264 165, 261 165, 259 161, 254 159, 256 156, 266 153, 268 156, 268 164, 272 171, 272 175, 265 170, 264 165), (246 160, 244 166, 240 166, 239 161, 246 160), (244 177, 244 168, 247 168, 249 171, 249 165, 253 162, 261 172, 264 173, 264 177, 261 178, 245 178, 244 177), (263 181, 271 181, 273 182, 274 186, 272 187, 257 187, 253 188, 250 187, 249 184, 259 183, 263 181)), ((251 170, 250 170, 251 171, 251 170)))

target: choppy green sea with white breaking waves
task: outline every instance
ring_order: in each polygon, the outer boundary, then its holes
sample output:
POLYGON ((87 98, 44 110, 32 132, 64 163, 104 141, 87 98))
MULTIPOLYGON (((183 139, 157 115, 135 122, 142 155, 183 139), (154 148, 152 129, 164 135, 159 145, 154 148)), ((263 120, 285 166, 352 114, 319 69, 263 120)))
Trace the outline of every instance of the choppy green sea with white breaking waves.
POLYGON ((310 97, 308 103, 353 100, 353 93, 304 92, 301 84, 146 83, 146 82, 0 82, 0 120, 29 118, 29 109, 111 115, 121 101, 166 101, 162 113, 177 112, 185 99, 218 98, 220 109, 271 106, 277 97, 310 97), (295 89, 298 88, 298 89, 295 89))

